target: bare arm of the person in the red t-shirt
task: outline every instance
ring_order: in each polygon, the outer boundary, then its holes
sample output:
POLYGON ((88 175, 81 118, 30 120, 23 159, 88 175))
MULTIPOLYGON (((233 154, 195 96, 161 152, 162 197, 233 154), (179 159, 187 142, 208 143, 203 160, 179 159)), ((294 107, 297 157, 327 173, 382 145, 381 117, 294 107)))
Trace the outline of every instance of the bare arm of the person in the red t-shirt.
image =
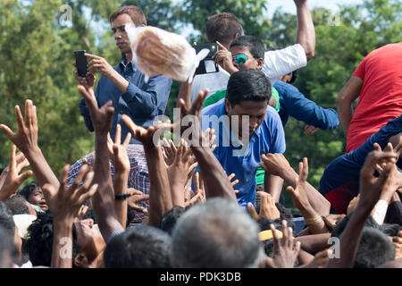
POLYGON ((363 80, 352 75, 337 97, 339 121, 345 136, 348 136, 349 124, 353 117, 352 104, 360 96, 362 87, 363 80))

